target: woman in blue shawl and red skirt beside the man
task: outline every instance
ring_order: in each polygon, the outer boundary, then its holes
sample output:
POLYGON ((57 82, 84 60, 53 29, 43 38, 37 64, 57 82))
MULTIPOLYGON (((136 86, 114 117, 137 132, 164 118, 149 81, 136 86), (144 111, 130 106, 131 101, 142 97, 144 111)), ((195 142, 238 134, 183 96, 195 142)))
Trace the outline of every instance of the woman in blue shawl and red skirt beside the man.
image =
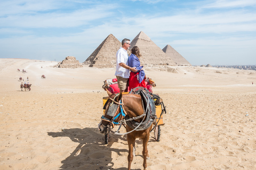
POLYGON ((144 87, 147 88, 146 86, 146 75, 144 70, 142 69, 143 66, 140 64, 140 49, 137 46, 134 46, 131 50, 131 55, 129 57, 129 66, 130 67, 136 67, 138 70, 137 72, 131 71, 130 73, 130 78, 129 78, 129 87, 130 89, 133 89, 135 87, 144 87))

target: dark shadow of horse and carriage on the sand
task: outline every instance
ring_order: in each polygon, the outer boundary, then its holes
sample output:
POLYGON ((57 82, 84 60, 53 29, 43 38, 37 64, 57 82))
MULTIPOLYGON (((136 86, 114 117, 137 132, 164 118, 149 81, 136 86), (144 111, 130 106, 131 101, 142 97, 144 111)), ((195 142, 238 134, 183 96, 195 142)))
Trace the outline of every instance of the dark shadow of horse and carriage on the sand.
MULTIPOLYGON (((63 165, 59 169, 113 169, 111 152, 116 152, 117 155, 128 152, 128 147, 126 149, 111 148, 111 145, 118 140, 127 145, 126 138, 115 135, 115 138, 110 137, 109 144, 105 145, 104 135, 97 128, 65 129, 61 132, 48 132, 48 135, 53 138, 69 137, 73 142, 78 143, 70 156, 62 160, 63 165)), ((117 168, 117 170, 125 170, 126 166, 117 168)))

